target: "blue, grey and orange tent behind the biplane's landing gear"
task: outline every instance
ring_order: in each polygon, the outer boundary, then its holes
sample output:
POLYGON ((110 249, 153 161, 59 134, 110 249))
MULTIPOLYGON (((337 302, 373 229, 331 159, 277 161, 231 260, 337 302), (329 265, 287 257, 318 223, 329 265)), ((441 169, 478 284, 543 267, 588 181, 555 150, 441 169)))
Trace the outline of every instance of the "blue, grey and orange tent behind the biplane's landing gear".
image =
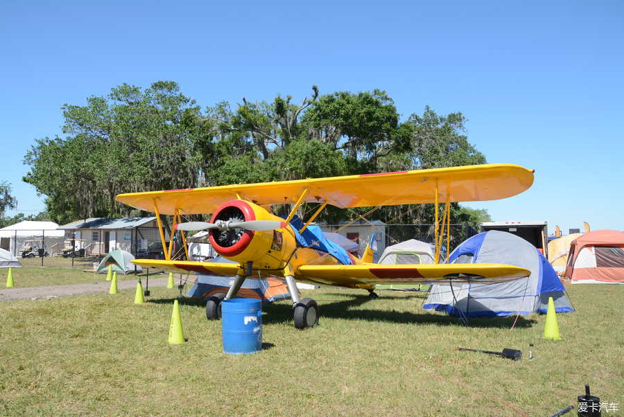
MULTIPOLYGON (((234 263, 233 260, 221 256, 207 260, 206 262, 234 263)), ((232 285, 232 280, 233 278, 230 276, 198 274, 195 285, 189 290, 187 296, 207 298, 219 292, 227 294, 227 290, 229 290, 229 287, 232 285)), ((245 279, 243 286, 236 296, 244 299, 259 299, 269 302, 291 298, 286 283, 271 277, 245 279)))

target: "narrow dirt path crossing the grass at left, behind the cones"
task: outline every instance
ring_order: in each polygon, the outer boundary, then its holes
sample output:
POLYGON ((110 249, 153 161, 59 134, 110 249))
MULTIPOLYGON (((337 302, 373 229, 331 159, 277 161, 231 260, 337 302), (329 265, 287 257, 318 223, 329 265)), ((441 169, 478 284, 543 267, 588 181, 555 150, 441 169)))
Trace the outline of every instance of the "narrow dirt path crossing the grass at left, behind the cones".
MULTIPOLYGON (((167 277, 150 279, 150 287, 166 287, 167 277)), ((145 287, 145 278, 141 280, 145 287)), ((117 281, 117 288, 130 290, 137 287, 137 281, 117 281)), ((108 292, 110 282, 101 283, 51 285, 49 287, 24 287, 24 288, 1 288, 0 301, 24 300, 24 299, 53 299, 67 295, 94 294, 96 292, 108 292)))

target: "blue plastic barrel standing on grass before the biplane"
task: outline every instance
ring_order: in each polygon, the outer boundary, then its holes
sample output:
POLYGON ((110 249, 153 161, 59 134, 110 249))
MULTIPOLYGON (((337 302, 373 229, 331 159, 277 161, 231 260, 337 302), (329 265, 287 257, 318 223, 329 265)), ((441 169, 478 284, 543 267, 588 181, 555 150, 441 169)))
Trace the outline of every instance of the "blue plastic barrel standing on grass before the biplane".
POLYGON ((262 348, 262 302, 257 299, 221 301, 223 353, 241 355, 262 348))

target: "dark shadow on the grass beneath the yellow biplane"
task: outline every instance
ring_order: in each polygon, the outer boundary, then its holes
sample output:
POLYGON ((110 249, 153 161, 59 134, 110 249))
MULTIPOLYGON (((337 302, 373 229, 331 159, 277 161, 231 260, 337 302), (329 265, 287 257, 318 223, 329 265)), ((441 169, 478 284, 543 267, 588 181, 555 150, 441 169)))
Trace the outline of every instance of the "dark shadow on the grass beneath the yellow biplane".
MULTIPOLYGON (((417 293, 416 293, 417 294, 417 293)), ((371 307, 374 307, 376 301, 384 300, 418 300, 422 299, 422 296, 417 295, 407 296, 380 296, 379 299, 370 299, 367 295, 353 295, 349 294, 348 299, 345 294, 323 294, 324 298, 327 296, 335 295, 336 298, 344 299, 344 301, 320 301, 320 318, 331 317, 332 319, 350 319, 350 320, 365 320, 365 321, 385 321, 388 323, 408 323, 408 324, 437 324, 438 326, 464 326, 458 317, 431 314, 431 313, 415 313, 415 312, 402 312, 402 311, 389 311, 389 310, 363 310, 358 308, 361 305, 370 303, 371 307)), ((189 297, 183 297, 179 299, 177 297, 168 299, 150 299, 146 300, 146 303, 155 304, 173 304, 173 301, 177 299, 181 305, 189 305, 197 308, 205 308, 206 300, 194 299, 189 297)), ((420 305, 417 308, 421 308, 420 305)), ((286 323, 293 320, 293 307, 290 303, 266 303, 262 306, 263 312, 267 314, 263 315, 263 324, 277 324, 286 323)), ((471 317, 468 319, 467 327, 471 328, 510 328, 516 316, 510 317, 471 317)), ((518 317, 516 327, 528 328, 532 327, 536 320, 526 319, 523 316, 518 317)))

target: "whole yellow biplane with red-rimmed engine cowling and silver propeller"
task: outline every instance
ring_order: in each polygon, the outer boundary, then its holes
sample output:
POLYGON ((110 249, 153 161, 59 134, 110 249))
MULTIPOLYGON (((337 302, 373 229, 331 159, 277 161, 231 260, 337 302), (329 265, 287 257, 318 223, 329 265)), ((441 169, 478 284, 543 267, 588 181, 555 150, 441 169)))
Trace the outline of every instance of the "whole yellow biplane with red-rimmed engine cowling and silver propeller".
MULTIPOLYGON (((533 171, 521 166, 489 164, 239 184, 184 190, 164 190, 117 195, 119 202, 153 211, 159 225, 165 260, 137 259, 142 267, 175 272, 235 276, 227 294, 211 296, 206 304, 209 319, 220 318, 220 302, 232 299, 248 276, 277 276, 288 285, 293 300, 295 327, 318 323, 313 299, 300 299, 296 282, 362 288, 371 296, 383 283, 500 283, 529 276, 521 267, 501 264, 378 265, 366 248, 361 258, 324 238, 311 226, 325 206, 339 208, 435 203, 435 259, 439 258, 444 227, 449 245, 451 202, 485 201, 511 197, 531 186, 533 171), (303 203, 318 204, 304 222, 295 213, 303 203), (444 203, 440 218, 438 206, 444 203), (271 213, 270 206, 292 204, 286 218, 271 213), (211 222, 182 222, 182 215, 212 213, 211 222), (195 262, 172 259, 160 215, 173 215, 172 230, 208 230, 209 240, 221 256, 236 263, 195 262), (441 222, 440 222, 441 220, 441 222), (441 223, 441 224, 440 224, 441 223)), ((186 248, 185 248, 186 249, 186 248)), ((448 252, 448 250, 447 250, 448 252)), ((187 254, 188 259, 188 254, 187 254)))

